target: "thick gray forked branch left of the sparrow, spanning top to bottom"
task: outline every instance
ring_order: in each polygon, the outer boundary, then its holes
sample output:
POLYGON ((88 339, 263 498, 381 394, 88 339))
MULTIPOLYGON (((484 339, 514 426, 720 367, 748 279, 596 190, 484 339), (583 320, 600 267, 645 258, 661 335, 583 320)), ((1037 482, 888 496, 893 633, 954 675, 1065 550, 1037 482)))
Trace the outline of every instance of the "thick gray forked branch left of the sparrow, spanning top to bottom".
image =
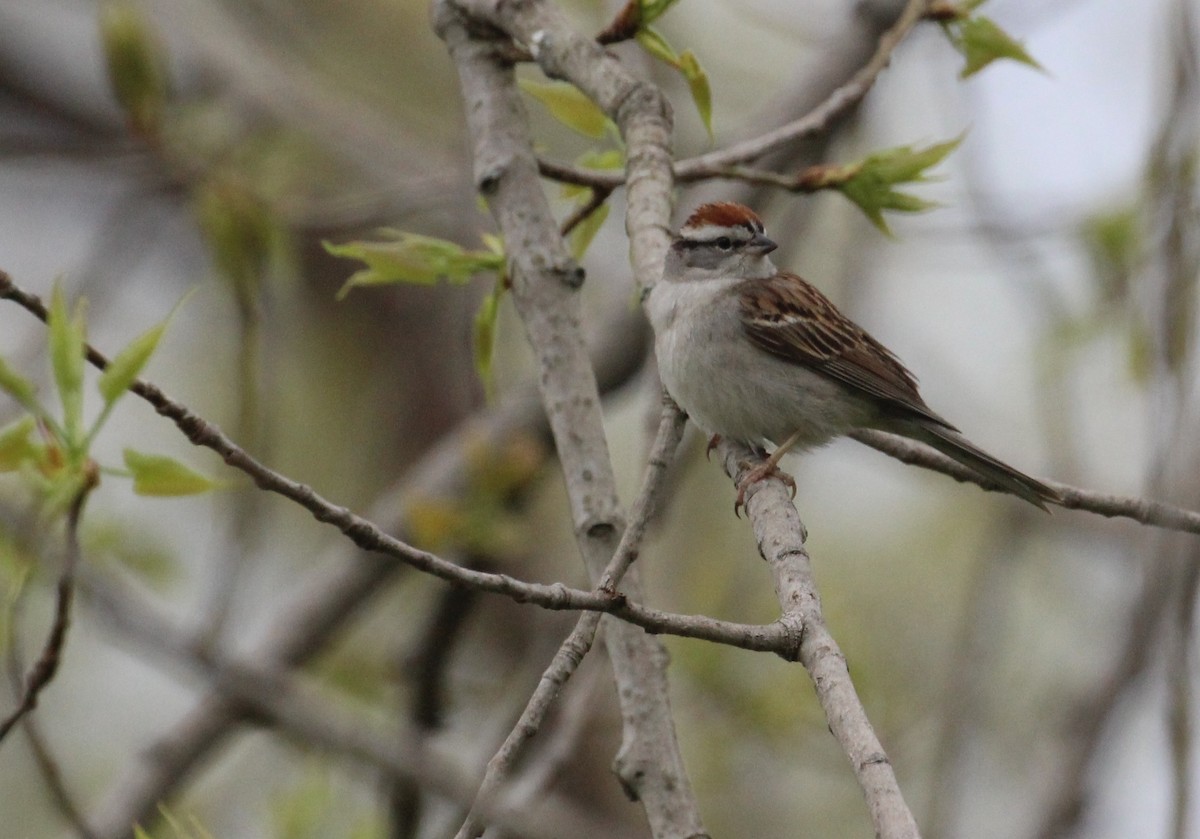
MULTIPOLYGON (((538 359, 539 385, 571 502, 576 537, 593 580, 624 529, 595 380, 583 352, 578 287, 542 193, 527 116, 502 50, 468 26, 498 26, 529 48, 547 73, 570 78, 608 112, 629 150, 630 229, 638 281, 653 283, 666 247, 671 184, 668 108, 552 5, 529 0, 436 4, 434 25, 458 68, 475 144, 475 179, 504 234, 517 311, 538 359)), ((641 599, 637 575, 625 592, 641 599)), ((620 622, 605 635, 624 719, 617 771, 642 802, 655 837, 703 834, 667 701, 667 655, 656 639, 620 622)))

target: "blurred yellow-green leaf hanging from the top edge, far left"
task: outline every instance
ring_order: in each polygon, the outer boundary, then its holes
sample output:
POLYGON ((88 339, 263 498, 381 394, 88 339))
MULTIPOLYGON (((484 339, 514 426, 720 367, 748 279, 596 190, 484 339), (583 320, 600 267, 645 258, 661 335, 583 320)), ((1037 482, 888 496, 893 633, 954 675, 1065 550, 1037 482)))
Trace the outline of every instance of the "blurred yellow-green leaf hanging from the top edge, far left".
POLYGON ((100 35, 108 80, 134 131, 156 134, 167 104, 167 61, 142 10, 128 0, 100 6, 100 35))

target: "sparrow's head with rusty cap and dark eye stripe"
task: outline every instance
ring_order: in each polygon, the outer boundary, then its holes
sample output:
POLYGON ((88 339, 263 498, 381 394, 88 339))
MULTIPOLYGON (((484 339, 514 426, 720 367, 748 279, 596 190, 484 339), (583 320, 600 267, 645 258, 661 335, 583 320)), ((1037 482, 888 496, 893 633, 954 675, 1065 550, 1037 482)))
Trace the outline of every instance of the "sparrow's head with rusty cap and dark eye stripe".
POLYGON ((665 276, 676 281, 769 277, 776 269, 767 254, 776 247, 749 206, 702 204, 671 242, 665 276))

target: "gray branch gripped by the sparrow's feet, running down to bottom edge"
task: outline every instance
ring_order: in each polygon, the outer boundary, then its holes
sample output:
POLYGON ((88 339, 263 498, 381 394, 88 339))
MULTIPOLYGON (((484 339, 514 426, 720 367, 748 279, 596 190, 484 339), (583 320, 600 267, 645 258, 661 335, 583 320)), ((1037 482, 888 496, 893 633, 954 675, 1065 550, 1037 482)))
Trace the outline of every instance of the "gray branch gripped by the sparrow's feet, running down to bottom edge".
MULTIPOLYGON (((721 441, 718 453, 726 473, 739 481, 756 460, 748 447, 721 441)), ((812 678, 817 701, 866 798, 875 835, 919 839, 920 832, 905 803, 895 772, 866 718, 851 682, 846 657, 829 633, 812 577, 806 538, 787 487, 780 480, 755 484, 746 493, 746 514, 754 525, 758 552, 770 565, 782 615, 779 623, 793 635, 798 659, 812 678)))

